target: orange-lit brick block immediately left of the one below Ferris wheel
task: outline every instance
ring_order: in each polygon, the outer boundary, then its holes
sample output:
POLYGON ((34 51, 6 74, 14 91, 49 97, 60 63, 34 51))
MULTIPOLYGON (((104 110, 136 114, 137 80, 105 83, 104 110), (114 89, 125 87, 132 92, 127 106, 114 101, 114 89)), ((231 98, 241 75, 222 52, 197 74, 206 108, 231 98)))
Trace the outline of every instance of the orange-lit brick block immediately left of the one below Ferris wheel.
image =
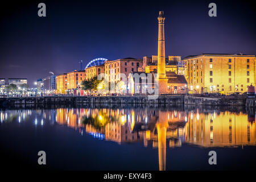
POLYGON ((85 80, 85 71, 73 71, 67 73, 67 88, 76 89, 81 85, 81 82, 85 80))

